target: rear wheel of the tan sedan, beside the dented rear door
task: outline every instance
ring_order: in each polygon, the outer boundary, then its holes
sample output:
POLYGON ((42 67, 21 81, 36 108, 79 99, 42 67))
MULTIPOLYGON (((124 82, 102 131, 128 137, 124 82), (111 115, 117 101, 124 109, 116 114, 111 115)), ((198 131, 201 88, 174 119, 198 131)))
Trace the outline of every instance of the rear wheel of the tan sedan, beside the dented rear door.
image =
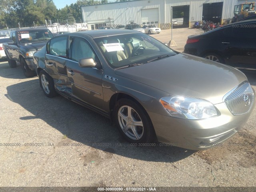
POLYGON ((46 72, 41 71, 39 73, 39 83, 46 96, 50 98, 56 96, 57 93, 55 91, 53 79, 46 72))

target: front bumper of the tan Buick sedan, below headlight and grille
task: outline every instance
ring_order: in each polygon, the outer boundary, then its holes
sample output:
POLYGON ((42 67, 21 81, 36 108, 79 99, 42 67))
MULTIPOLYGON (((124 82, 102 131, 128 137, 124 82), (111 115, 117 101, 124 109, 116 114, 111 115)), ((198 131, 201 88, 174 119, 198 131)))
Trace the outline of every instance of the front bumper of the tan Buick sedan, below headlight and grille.
POLYGON ((148 114, 159 142, 191 150, 205 150, 220 145, 238 132, 254 108, 247 114, 234 116, 225 103, 215 106, 221 115, 203 120, 185 120, 153 112, 148 114))

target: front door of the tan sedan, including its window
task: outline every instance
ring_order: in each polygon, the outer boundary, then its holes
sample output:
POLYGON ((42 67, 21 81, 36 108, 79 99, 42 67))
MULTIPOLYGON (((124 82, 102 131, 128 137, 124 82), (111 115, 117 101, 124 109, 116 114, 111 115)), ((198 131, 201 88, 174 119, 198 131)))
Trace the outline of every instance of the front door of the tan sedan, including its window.
POLYGON ((103 70, 91 44, 84 38, 70 36, 69 59, 66 62, 66 70, 68 81, 72 84, 72 96, 100 109, 103 103, 103 70), (80 67, 78 62, 83 58, 93 58, 98 68, 80 67))

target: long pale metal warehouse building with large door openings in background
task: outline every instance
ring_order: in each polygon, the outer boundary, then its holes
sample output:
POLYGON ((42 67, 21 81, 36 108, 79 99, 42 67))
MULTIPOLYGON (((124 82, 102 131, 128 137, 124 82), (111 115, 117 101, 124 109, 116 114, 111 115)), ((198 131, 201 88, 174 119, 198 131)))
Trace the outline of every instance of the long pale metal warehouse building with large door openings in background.
POLYGON ((234 16, 234 6, 245 0, 133 0, 81 6, 88 29, 131 23, 155 24, 169 28, 171 7, 173 20, 189 27, 196 21, 224 22, 234 16))

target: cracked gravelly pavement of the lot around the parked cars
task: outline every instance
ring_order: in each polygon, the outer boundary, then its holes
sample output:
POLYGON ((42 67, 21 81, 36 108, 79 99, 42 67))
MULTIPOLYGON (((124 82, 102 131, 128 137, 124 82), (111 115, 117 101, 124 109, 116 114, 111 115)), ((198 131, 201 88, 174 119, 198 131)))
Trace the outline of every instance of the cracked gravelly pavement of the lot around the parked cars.
MULTIPOLYGON (((168 31, 152 36, 163 41, 168 31)), ((197 32, 176 30, 176 49, 197 32)), ((255 74, 246 75, 256 89, 255 74)), ((223 146, 134 147, 107 118, 62 96, 47 98, 37 77, 0 62, 0 143, 20 145, 0 146, 1 187, 256 186, 255 127, 256 109, 223 146)))

